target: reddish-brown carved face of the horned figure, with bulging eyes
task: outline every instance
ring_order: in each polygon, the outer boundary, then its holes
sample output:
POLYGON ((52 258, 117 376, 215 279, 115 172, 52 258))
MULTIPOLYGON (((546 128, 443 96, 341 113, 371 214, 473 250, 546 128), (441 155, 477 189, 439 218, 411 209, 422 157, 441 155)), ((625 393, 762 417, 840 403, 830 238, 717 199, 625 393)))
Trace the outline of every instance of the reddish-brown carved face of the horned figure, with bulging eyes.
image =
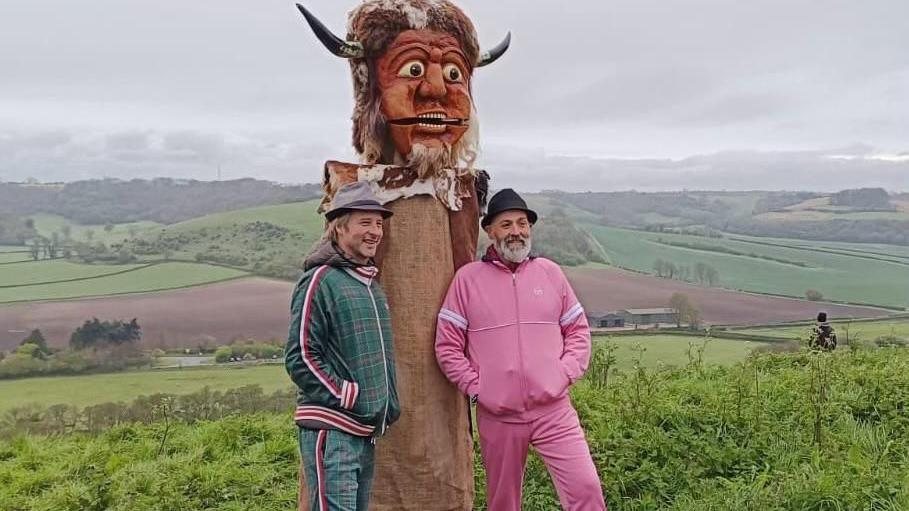
POLYGON ((467 62, 454 37, 432 30, 401 32, 379 58, 381 109, 398 154, 461 139, 471 112, 467 62))

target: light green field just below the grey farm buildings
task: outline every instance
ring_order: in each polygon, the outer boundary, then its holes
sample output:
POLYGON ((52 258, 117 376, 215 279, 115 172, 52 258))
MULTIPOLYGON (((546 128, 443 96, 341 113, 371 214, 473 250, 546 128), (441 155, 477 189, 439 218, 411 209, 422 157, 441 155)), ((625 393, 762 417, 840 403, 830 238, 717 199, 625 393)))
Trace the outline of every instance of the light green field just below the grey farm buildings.
MULTIPOLYGON (((681 335, 624 335, 596 336, 594 342, 607 341, 614 344, 616 367, 622 370, 631 369, 643 348, 641 363, 645 367, 683 366, 688 364, 688 351, 691 346, 692 356, 697 356, 698 347, 704 345, 704 337, 681 335)), ((703 360, 708 364, 733 364, 766 343, 734 341, 727 339, 710 339, 703 352, 703 360)))

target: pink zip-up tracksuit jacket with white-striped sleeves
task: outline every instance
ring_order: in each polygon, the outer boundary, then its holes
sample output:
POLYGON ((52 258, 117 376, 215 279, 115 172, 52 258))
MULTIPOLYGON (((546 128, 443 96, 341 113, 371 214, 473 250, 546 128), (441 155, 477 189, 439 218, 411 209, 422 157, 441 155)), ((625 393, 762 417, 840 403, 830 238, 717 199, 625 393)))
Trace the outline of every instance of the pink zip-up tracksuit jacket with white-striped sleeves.
POLYGON ((484 411, 529 422, 568 404, 590 361, 590 329, 554 262, 528 259, 512 272, 487 256, 455 275, 439 312, 436 358, 484 411))

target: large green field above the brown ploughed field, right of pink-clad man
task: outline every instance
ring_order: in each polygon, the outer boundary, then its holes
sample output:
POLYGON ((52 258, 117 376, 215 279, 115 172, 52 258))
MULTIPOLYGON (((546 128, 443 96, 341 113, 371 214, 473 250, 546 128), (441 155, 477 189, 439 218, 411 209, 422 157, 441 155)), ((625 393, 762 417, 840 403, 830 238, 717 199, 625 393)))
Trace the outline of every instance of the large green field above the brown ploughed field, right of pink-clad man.
MULTIPOLYGON (((636 271, 652 273, 657 259, 689 266, 704 262, 717 269, 720 285, 725 288, 796 297, 804 296, 807 289, 816 289, 832 300, 896 307, 909 305, 909 285, 906 284, 909 282, 909 264, 872 259, 865 257, 867 254, 819 252, 812 248, 829 245, 827 242, 774 242, 789 244, 782 247, 756 243, 756 239, 744 236, 737 238, 745 241, 734 241, 592 224, 585 228, 603 245, 614 264, 636 271), (675 243, 728 247, 744 255, 670 246, 658 243, 659 238, 675 243), (750 257, 748 254, 751 253, 799 262, 805 267, 750 257)), ((901 248, 893 250, 898 253, 901 248)))

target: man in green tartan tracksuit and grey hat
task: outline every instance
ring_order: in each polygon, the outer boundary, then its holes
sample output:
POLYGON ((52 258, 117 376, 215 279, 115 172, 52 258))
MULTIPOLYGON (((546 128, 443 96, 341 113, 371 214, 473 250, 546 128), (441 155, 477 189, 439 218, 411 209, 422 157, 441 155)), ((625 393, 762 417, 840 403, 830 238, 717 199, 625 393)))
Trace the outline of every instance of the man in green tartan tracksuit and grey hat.
POLYGON ((368 185, 342 187, 326 213, 328 239, 294 289, 285 366, 299 388, 311 511, 365 511, 375 440, 400 415, 388 302, 372 264, 382 207, 368 185))

